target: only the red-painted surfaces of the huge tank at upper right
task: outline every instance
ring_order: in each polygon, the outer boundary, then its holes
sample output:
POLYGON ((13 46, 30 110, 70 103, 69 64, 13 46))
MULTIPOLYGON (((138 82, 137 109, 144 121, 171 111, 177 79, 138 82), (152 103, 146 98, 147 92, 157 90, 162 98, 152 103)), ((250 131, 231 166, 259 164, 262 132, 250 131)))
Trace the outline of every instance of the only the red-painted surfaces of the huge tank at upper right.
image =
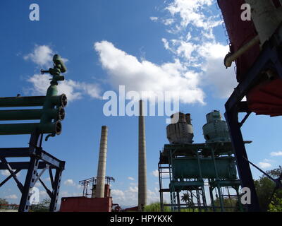
MULTIPOLYGON (((281 6, 280 2, 272 1, 276 7, 281 6)), ((245 4, 244 0, 218 0, 218 3, 231 41, 231 53, 233 53, 257 36, 257 31, 252 20, 241 20, 243 12, 241 6, 245 4)), ((259 44, 256 44, 235 61, 236 77, 239 83, 245 79, 247 71, 259 57, 259 53, 260 47, 259 44)), ((282 115, 282 81, 277 77, 273 81, 262 81, 250 90, 246 96, 250 111, 271 117, 282 115)))

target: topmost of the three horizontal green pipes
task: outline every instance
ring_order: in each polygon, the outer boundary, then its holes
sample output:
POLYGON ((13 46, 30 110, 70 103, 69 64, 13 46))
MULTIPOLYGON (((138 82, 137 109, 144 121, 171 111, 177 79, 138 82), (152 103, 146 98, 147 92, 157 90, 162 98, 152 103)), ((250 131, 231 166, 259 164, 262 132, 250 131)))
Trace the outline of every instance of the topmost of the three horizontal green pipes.
MULTIPOLYGON (((43 106, 46 96, 35 97, 0 97, 0 107, 35 107, 43 106)), ((67 98, 65 94, 49 97, 52 105, 66 107, 67 98)))

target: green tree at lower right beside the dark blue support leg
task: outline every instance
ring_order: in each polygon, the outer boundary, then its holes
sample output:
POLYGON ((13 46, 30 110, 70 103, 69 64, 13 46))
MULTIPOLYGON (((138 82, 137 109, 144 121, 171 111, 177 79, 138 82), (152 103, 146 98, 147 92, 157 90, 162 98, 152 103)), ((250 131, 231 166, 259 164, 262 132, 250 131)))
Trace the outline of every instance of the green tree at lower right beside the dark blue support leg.
MULTIPOLYGON (((282 167, 279 166, 276 169, 271 169, 269 171, 266 171, 267 174, 269 174, 274 179, 278 178, 282 173, 282 167)), ((255 180, 255 188, 257 191, 257 197, 259 198, 259 206, 262 211, 266 212, 269 210, 269 204, 271 204, 271 195, 273 194, 275 183, 263 175, 262 177, 259 177, 259 179, 255 180)), ((276 191, 276 198, 281 199, 282 198, 282 190, 276 191)), ((274 197, 273 197, 274 198, 274 197)), ((276 205, 276 201, 274 201, 271 205, 272 208, 276 205)))

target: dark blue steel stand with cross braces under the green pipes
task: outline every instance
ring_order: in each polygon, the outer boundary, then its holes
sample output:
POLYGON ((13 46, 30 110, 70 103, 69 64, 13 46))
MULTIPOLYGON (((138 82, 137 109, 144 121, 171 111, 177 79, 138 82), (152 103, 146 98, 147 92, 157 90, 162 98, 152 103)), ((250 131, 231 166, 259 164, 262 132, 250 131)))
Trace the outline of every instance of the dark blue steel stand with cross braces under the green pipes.
POLYGON ((30 206, 32 205, 32 202, 30 201, 30 198, 32 197, 32 188, 38 181, 42 184, 44 189, 47 191, 47 194, 51 198, 49 211, 56 211, 59 188, 61 184, 61 173, 65 168, 65 162, 58 160, 56 157, 50 155, 42 149, 42 137, 43 135, 40 133, 32 133, 28 148, 0 148, 0 169, 7 169, 8 172, 10 172, 10 176, 6 177, 6 179, 0 183, 0 187, 8 182, 8 180, 11 178, 15 180, 18 189, 20 189, 22 194, 18 209, 19 212, 28 212, 30 210, 30 206), (30 157, 30 161, 8 162, 6 159, 14 157, 30 157), (17 177, 17 174, 23 169, 27 169, 24 184, 22 184, 17 177), (42 169, 42 171, 39 172, 39 169, 42 169), (54 177, 52 169, 56 170, 54 177), (42 174, 46 170, 49 171, 51 189, 48 189, 46 184, 44 184, 43 180, 41 179, 42 174))

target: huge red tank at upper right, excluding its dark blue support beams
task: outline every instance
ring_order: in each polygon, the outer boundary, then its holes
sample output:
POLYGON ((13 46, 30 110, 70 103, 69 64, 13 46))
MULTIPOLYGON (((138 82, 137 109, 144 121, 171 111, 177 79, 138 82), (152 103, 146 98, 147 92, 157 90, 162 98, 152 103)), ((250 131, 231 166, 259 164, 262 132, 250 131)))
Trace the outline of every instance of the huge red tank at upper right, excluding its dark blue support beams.
MULTIPOLYGON (((282 22, 282 6, 278 0, 218 0, 223 20, 230 40, 230 52, 235 54, 239 49, 257 39, 238 59, 236 77, 240 83, 259 57, 264 43, 278 29, 282 22), (252 20, 242 20, 243 4, 252 7, 252 20)), ((228 57, 228 56, 226 56, 228 57)), ((228 79, 228 78, 227 78, 228 79)), ((282 81, 278 73, 265 69, 264 77, 247 93, 247 105, 251 112, 266 114, 271 117, 282 114, 281 89, 282 81)))

